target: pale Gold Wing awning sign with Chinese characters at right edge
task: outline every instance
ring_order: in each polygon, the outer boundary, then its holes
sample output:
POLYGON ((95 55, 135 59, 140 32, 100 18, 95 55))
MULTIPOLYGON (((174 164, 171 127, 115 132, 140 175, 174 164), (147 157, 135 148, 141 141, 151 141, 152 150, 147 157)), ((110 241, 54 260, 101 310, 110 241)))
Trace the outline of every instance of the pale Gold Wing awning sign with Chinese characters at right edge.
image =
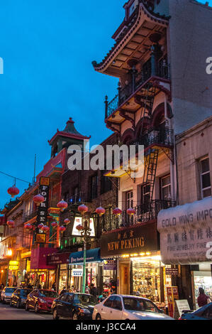
POLYGON ((160 211, 157 230, 164 264, 211 262, 212 197, 160 211))

